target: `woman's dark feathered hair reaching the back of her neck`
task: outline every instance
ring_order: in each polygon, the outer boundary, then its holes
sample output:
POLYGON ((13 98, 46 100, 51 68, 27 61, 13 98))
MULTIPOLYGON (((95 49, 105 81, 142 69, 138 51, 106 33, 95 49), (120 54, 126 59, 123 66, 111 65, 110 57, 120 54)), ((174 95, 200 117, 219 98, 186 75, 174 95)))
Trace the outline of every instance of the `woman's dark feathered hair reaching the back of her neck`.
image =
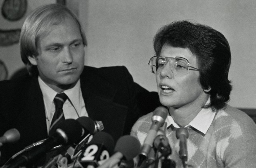
POLYGON ((203 106, 221 109, 226 106, 232 90, 228 80, 231 52, 227 39, 212 27, 191 21, 174 21, 161 27, 154 37, 156 56, 164 44, 189 49, 197 57, 204 90, 211 89, 210 104, 203 106))

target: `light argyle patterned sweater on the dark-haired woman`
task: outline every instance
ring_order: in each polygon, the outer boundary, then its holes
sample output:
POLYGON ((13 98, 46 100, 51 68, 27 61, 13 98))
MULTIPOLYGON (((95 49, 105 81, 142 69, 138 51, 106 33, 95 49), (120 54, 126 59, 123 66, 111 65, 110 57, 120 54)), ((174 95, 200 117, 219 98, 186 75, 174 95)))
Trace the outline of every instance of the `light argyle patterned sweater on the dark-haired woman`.
MULTIPOLYGON (((141 145, 152 124, 152 112, 140 117, 132 127, 131 135, 141 145)), ((176 128, 168 128, 172 153, 169 158, 176 162, 176 168, 183 168, 179 158, 179 140, 176 128)), ((216 111, 206 134, 188 128, 188 167, 193 168, 256 168, 256 124, 244 112, 227 105, 216 111)))

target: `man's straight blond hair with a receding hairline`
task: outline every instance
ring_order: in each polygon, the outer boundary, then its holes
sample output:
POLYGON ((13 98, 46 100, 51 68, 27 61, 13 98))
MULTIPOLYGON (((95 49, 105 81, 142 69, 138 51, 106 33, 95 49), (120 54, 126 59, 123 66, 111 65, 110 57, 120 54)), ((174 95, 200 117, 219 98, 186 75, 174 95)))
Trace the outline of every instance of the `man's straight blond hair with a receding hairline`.
POLYGON ((38 75, 37 66, 32 65, 28 57, 37 57, 39 55, 37 43, 40 36, 48 33, 52 25, 58 25, 68 17, 72 18, 78 24, 83 44, 87 45, 85 33, 78 18, 71 10, 61 4, 40 6, 24 21, 20 33, 20 55, 30 75, 38 75))

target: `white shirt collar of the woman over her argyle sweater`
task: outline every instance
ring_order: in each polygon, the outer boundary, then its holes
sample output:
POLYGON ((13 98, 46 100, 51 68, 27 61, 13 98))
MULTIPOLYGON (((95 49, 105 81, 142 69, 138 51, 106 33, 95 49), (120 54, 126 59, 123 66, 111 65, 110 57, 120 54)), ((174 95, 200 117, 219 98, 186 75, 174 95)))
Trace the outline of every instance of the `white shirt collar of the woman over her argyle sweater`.
MULTIPOLYGON (((210 103, 210 97, 206 104, 210 103)), ((212 121, 214 119, 215 112, 212 111, 211 108, 202 108, 201 111, 196 115, 196 117, 185 127, 194 127, 198 131, 206 134, 207 130, 209 129, 210 125, 212 124, 212 121)), ((169 127, 171 124, 176 127, 180 128, 180 126, 174 122, 174 119, 172 116, 168 115, 166 118, 167 127, 169 127)))

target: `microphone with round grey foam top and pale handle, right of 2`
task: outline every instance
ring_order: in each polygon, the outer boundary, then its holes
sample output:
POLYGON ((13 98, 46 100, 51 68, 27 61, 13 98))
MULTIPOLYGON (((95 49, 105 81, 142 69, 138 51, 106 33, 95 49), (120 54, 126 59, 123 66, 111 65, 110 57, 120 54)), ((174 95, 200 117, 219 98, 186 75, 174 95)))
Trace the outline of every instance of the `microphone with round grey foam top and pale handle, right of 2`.
POLYGON ((112 168, 117 166, 122 159, 132 160, 140 152, 140 142, 135 137, 124 135, 116 142, 114 154, 98 168, 112 168))

